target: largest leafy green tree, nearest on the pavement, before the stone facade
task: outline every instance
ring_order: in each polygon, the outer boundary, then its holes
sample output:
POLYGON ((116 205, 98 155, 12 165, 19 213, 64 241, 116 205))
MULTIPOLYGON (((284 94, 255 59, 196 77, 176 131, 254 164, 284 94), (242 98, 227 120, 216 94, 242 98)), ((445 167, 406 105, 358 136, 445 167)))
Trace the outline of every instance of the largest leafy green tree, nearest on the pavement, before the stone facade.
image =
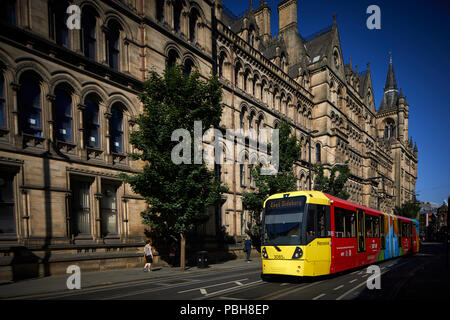
MULTIPOLYGON (((151 237, 180 238, 182 268, 186 234, 207 221, 207 208, 219 203, 226 187, 204 162, 175 164, 171 154, 179 141, 171 137, 176 129, 186 129, 193 137, 194 121, 202 121, 202 132, 217 127, 222 115, 221 97, 216 76, 203 81, 197 70, 186 75, 179 66, 163 75, 152 71, 140 95, 144 112, 136 120, 138 129, 130 136, 136 149, 130 156, 143 161, 144 166, 142 172, 122 175, 122 179, 145 198, 148 208, 141 216, 150 226, 151 237)), ((191 139, 190 152, 193 144, 191 139)))

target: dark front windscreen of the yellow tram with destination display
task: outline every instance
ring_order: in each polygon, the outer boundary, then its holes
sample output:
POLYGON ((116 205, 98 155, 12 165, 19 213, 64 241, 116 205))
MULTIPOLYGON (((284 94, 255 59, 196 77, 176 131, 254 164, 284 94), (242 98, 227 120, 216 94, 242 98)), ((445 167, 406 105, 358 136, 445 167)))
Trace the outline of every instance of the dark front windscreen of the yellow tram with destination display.
POLYGON ((305 203, 305 196, 268 200, 264 209, 263 244, 300 244, 305 203))

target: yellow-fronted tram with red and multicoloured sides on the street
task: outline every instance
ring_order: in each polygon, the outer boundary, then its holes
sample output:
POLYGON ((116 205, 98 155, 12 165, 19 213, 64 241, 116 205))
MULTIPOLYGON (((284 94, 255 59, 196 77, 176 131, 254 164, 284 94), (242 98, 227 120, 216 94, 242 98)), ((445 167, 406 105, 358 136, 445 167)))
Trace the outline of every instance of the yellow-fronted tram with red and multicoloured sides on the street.
POLYGON ((419 251, 419 224, 319 191, 270 196, 262 277, 321 276, 419 251))

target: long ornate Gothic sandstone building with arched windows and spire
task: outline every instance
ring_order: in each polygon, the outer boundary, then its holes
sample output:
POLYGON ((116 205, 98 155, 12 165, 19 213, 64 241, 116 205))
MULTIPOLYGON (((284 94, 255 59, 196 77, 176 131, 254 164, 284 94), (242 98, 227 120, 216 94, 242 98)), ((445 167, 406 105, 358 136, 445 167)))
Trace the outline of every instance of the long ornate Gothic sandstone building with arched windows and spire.
MULTIPOLYGON (((280 2, 278 13, 273 37, 263 0, 240 16, 221 0, 2 1, 0 243, 64 250, 94 243, 105 252, 142 243, 145 203, 119 174, 140 167, 127 152, 142 84, 150 70, 174 63, 219 75, 222 129, 291 124, 302 141, 298 189, 310 183, 311 150, 326 172, 349 161, 350 201, 392 212, 411 199, 417 147, 392 61, 377 110, 369 64, 362 72, 344 64, 336 19, 303 37, 296 0, 280 2), (80 29, 67 28, 77 12, 67 14, 70 5, 80 10, 80 29)), ((238 157, 245 164, 217 170, 229 193, 206 234, 217 226, 244 234, 252 151, 238 157)))

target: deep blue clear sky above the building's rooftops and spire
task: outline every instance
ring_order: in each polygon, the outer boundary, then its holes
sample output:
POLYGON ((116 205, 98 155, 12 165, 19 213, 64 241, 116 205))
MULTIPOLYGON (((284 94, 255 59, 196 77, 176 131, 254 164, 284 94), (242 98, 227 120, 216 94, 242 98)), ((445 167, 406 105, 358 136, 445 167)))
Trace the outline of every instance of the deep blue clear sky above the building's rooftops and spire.
MULTIPOLYGON (((277 4, 272 11, 272 35, 278 33, 277 4)), ((250 1, 223 0, 235 14, 250 1)), ((259 0, 253 0, 254 8, 259 0)), ((450 196, 450 1, 447 0, 299 0, 299 32, 306 37, 337 24, 345 64, 352 57, 358 71, 370 62, 375 105, 378 108, 392 51, 397 85, 409 103, 409 136, 419 149, 416 193, 421 201, 441 204, 450 196), (369 30, 366 9, 381 9, 381 29, 369 30)))

